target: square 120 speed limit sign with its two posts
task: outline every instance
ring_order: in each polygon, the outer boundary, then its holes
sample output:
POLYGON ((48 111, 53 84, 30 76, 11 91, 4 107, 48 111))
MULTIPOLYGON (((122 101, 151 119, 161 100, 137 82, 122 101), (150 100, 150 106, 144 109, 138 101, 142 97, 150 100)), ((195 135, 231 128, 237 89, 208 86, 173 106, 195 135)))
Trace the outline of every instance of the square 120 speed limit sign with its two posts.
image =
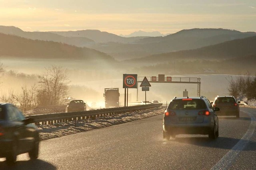
POLYGON ((128 89, 137 89, 137 74, 123 74, 124 106, 128 106, 128 89), (127 97, 126 97, 127 89, 127 97))

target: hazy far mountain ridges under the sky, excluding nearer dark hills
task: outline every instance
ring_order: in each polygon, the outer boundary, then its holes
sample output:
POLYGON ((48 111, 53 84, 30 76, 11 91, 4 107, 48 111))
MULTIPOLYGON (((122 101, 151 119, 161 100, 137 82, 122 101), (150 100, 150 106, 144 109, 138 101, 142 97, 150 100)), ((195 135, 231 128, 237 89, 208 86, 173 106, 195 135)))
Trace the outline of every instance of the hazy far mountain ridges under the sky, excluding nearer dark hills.
POLYGON ((256 36, 255 32, 239 32, 227 29, 181 30, 164 37, 125 38, 100 30, 67 32, 24 32, 16 27, 0 26, 0 32, 32 40, 66 43, 88 47, 111 55, 117 60, 146 57, 159 53, 196 49, 208 45, 256 36))

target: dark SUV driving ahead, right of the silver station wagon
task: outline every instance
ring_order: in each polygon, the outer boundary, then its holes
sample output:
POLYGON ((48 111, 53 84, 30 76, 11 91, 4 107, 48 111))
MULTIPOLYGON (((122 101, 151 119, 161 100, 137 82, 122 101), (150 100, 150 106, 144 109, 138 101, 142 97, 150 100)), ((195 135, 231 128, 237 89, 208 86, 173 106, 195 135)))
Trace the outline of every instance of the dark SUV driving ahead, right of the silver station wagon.
POLYGON ((218 116, 236 116, 239 118, 239 103, 234 96, 217 96, 213 102, 213 107, 220 108, 216 112, 218 116))

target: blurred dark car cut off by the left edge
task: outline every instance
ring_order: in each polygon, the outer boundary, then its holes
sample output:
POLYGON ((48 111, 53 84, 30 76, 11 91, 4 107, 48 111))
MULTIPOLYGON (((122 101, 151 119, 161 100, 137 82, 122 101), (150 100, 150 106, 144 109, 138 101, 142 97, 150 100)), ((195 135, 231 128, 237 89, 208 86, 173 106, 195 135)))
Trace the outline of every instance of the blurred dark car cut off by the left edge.
POLYGON ((27 152, 31 159, 38 158, 39 133, 32 123, 14 105, 0 103, 0 158, 6 158, 8 164, 27 152))

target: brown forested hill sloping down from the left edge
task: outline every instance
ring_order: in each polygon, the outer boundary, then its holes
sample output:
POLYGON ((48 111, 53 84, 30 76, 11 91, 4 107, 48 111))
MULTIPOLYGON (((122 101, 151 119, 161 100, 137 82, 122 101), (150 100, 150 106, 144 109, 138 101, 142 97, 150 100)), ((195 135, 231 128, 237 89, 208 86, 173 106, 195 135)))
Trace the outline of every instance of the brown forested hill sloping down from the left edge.
POLYGON ((0 56, 37 59, 81 59, 115 62, 106 53, 52 41, 40 41, 0 33, 0 56))

